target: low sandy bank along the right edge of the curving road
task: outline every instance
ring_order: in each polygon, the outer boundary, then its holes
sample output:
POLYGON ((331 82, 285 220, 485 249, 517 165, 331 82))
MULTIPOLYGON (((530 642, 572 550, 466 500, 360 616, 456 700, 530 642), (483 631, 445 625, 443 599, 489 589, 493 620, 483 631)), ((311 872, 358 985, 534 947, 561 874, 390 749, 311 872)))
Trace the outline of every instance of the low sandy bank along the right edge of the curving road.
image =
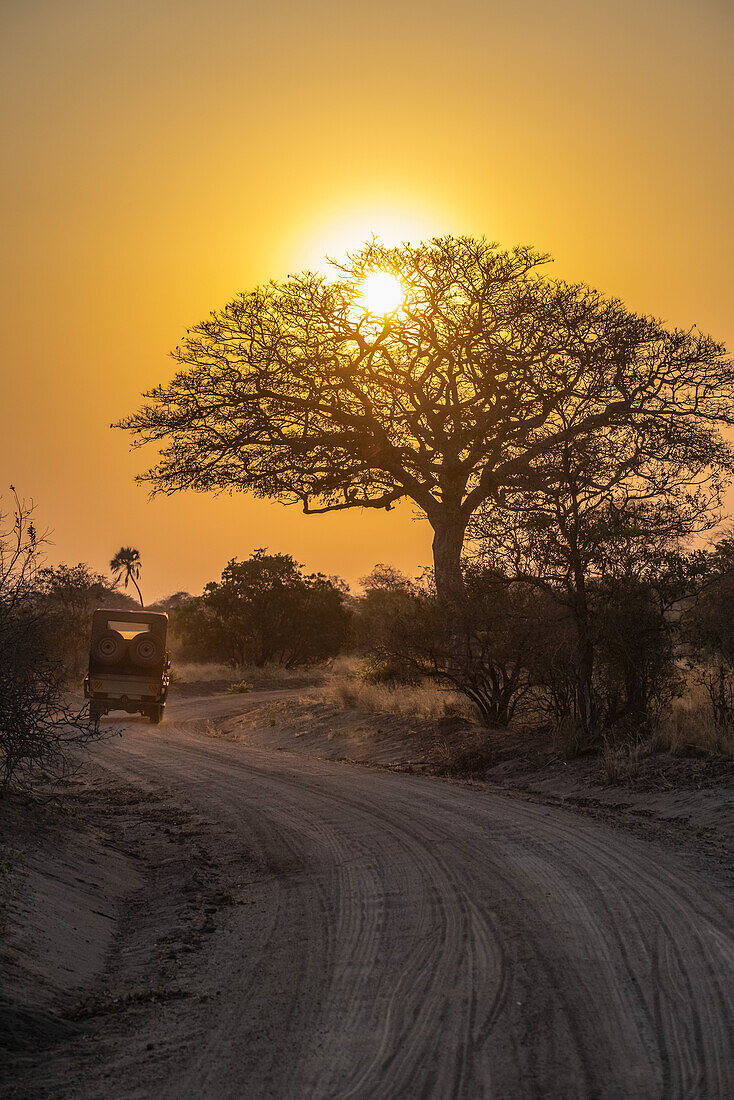
POLYGON ((325 703, 318 693, 247 696, 202 728, 256 748, 393 771, 443 774, 457 748, 481 745, 483 790, 501 788, 645 835, 705 848, 734 873, 734 760, 654 754, 610 782, 599 756, 568 759, 547 735, 476 730, 462 718, 434 722, 375 715, 325 703))

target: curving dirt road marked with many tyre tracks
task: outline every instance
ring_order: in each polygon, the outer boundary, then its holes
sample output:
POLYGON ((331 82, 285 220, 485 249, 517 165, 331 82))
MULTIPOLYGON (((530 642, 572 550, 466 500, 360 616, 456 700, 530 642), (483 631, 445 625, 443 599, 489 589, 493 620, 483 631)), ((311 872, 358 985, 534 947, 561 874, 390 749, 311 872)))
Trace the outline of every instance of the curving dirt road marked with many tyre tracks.
MULTIPOLYGON (((724 879, 557 807, 207 736, 242 705, 174 701, 99 754, 219 837, 233 899, 177 956, 186 996, 69 1048, 56 1094, 734 1096, 724 879)), ((118 971, 157 965, 144 925, 118 971)))

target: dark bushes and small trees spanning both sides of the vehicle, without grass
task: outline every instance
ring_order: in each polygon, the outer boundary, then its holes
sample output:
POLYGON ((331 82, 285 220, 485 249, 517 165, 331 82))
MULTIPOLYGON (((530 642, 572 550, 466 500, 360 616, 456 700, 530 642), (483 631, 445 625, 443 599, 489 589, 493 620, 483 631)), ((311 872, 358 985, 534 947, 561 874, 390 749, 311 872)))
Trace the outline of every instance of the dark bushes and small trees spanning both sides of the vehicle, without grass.
MULTIPOLYGON (((201 595, 151 605, 169 615, 174 656, 286 668, 361 654, 388 685, 431 680, 468 696, 489 726, 565 728, 578 744, 649 733, 698 689, 734 725, 734 537, 686 547, 675 509, 537 495, 474 524, 463 593, 439 595, 377 565, 351 594, 286 553, 232 559, 201 595), (547 502, 546 502, 547 504, 547 502)), ((84 563, 47 566, 31 509, 14 498, 0 537, 0 767, 53 770, 96 736, 66 702, 87 664, 91 615, 138 606, 84 563)))

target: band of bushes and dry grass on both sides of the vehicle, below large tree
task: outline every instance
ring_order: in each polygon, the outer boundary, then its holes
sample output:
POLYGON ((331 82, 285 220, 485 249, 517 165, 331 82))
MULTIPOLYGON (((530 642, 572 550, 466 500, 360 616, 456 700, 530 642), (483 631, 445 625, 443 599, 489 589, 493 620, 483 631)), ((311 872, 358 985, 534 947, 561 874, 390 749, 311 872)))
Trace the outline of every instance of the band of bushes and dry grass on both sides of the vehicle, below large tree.
MULTIPOLYGON (((710 499, 676 506, 668 493, 651 507, 624 491, 580 504, 559 477, 552 498, 507 497, 480 515, 465 598, 449 605, 430 572, 379 564, 353 594, 288 554, 232 559, 200 596, 153 605, 169 615, 174 690, 291 689, 324 721, 392 716, 410 736, 423 728, 450 773, 484 772, 502 737, 519 755, 545 744, 549 758, 598 758, 611 783, 655 754, 732 759, 734 536, 691 549, 721 518, 710 499)), ((30 787, 99 736, 68 702, 91 614, 135 602, 120 571, 46 565, 32 506, 13 502, 0 548, 2 783, 30 787)))

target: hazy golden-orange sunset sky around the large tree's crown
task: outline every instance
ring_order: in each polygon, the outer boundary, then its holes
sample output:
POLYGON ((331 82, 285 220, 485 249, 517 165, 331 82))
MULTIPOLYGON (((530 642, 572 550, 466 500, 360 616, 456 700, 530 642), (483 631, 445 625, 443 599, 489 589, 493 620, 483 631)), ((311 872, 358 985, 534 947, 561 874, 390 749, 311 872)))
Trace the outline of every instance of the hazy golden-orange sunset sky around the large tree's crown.
MULTIPOLYGON (((109 424, 240 289, 371 232, 532 243, 734 346, 730 0, 3 0, 0 448, 53 561, 415 572, 409 508, 150 502, 109 424)), ((7 501, 7 496, 4 497, 7 501)))

